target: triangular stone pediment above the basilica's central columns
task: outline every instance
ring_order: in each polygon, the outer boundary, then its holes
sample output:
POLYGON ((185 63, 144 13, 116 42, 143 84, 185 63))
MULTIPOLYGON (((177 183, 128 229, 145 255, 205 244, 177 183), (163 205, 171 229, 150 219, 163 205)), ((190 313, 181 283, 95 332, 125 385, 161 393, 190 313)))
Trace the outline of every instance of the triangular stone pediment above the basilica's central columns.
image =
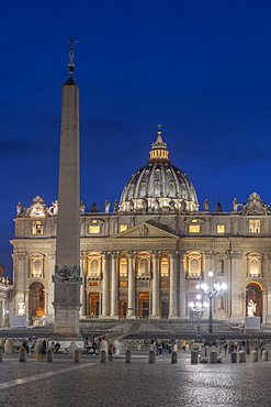
POLYGON ((148 222, 142 222, 133 228, 126 229, 124 232, 113 235, 111 239, 179 239, 178 235, 167 232, 161 228, 157 228, 148 222))

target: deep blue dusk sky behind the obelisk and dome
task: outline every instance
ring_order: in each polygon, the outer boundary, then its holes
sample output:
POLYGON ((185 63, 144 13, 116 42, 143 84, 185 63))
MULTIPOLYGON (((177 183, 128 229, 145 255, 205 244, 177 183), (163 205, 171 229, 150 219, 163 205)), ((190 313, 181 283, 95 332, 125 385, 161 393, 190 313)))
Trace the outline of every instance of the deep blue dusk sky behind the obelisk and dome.
POLYGON ((200 209, 270 205, 271 1, 2 2, 0 260, 12 275, 15 207, 57 199, 61 85, 74 35, 81 199, 120 199, 161 124, 200 209))

